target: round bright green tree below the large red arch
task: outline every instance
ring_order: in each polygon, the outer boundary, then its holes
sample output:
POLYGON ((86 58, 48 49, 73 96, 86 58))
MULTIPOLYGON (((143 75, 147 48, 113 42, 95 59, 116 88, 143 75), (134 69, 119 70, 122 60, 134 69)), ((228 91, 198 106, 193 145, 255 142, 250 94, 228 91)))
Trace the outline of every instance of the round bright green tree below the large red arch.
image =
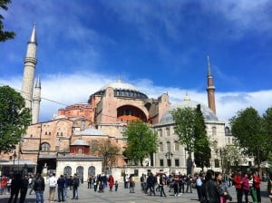
POLYGON ((157 132, 143 121, 131 121, 124 132, 127 136, 127 148, 124 155, 135 163, 141 163, 144 158, 158 150, 157 132))

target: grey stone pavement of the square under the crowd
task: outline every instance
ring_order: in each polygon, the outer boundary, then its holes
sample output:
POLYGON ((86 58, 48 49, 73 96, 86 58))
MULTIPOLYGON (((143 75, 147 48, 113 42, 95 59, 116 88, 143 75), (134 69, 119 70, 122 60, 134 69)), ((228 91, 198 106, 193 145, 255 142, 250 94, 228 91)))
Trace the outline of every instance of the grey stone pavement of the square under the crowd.
MULTIPOLYGON (((261 184, 261 195, 262 203, 269 203, 270 200, 267 198, 267 182, 262 182, 261 184)), ((180 197, 175 197, 173 192, 169 192, 168 187, 165 188, 165 193, 167 198, 160 197, 160 193, 157 192, 157 196, 149 196, 141 192, 140 182, 136 182, 135 193, 130 193, 129 189, 123 189, 123 184, 119 184, 119 189, 117 192, 109 191, 109 188, 105 189, 103 193, 94 192, 93 189, 87 189, 87 184, 83 183, 79 188, 79 199, 71 199, 73 195, 72 190, 68 190, 69 198, 66 199, 67 203, 102 203, 102 202, 121 202, 121 203, 149 203, 149 202, 163 202, 163 203, 198 203, 197 191, 192 189, 192 193, 184 193, 180 197)), ((228 189, 230 195, 233 197, 232 203, 236 201, 236 192, 234 187, 228 189)), ((57 197, 57 194, 56 196, 57 197)), ((7 203, 9 196, 0 195, 0 203, 7 203)), ((46 185, 44 191, 44 203, 49 202, 48 200, 48 185, 46 185)), ((57 202, 57 201, 55 201, 57 202)), ((35 195, 27 195, 25 203, 35 203, 35 195)))

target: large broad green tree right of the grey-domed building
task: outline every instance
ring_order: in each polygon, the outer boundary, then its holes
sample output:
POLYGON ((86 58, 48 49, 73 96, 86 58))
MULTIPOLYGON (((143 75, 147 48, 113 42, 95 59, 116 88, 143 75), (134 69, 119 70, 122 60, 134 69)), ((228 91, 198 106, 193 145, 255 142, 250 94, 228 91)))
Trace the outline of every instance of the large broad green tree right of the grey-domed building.
POLYGON ((260 162, 266 159, 267 135, 263 132, 262 118, 257 111, 249 107, 244 111, 238 111, 238 115, 230 120, 232 135, 236 138, 242 152, 253 156, 257 160, 257 168, 260 162))

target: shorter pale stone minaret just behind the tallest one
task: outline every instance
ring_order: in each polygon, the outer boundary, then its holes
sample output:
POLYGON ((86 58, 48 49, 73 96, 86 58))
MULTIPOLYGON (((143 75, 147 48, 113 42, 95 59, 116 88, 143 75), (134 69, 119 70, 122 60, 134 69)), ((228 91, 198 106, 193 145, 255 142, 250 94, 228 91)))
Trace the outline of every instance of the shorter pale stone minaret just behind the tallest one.
POLYGON ((41 80, 40 75, 36 81, 34 87, 34 96, 33 96, 33 103, 32 103, 32 123, 37 123, 39 121, 39 114, 40 114, 40 102, 41 102, 41 80))

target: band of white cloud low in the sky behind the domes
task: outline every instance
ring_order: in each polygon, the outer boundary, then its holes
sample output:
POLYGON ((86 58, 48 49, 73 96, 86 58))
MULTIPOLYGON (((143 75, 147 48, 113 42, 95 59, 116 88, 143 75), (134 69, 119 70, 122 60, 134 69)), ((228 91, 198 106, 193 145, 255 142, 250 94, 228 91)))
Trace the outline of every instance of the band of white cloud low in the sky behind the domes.
MULTIPOLYGON (((97 92, 102 86, 109 82, 116 82, 118 75, 102 75, 98 73, 84 74, 57 74, 44 75, 42 77, 42 97, 40 120, 49 121, 53 114, 66 105, 87 102, 89 96, 97 92)), ((207 93, 195 90, 183 90, 182 87, 161 87, 156 86, 148 79, 123 82, 132 83, 141 92, 146 93, 150 98, 157 99, 162 93, 170 95, 172 104, 184 99, 186 92, 192 101, 201 102, 207 105, 207 93)), ((1 80, 1 85, 7 84, 21 90, 21 77, 14 77, 10 80, 1 80)), ((259 114, 263 114, 267 108, 272 106, 272 90, 258 92, 216 92, 217 115, 221 120, 228 120, 235 116, 240 110, 248 107, 255 108, 259 114)))

